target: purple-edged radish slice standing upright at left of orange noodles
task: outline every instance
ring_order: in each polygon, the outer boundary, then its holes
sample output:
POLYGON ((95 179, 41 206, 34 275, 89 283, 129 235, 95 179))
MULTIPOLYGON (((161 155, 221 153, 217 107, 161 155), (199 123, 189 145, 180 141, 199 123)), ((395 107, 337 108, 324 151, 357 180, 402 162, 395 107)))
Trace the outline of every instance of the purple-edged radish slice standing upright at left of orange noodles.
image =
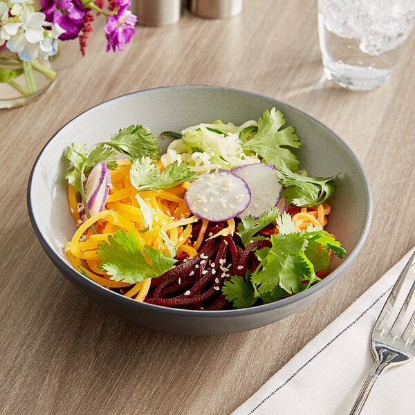
POLYGON ((85 182, 85 199, 91 216, 104 210, 110 184, 111 172, 107 163, 100 161, 91 169, 85 182))

